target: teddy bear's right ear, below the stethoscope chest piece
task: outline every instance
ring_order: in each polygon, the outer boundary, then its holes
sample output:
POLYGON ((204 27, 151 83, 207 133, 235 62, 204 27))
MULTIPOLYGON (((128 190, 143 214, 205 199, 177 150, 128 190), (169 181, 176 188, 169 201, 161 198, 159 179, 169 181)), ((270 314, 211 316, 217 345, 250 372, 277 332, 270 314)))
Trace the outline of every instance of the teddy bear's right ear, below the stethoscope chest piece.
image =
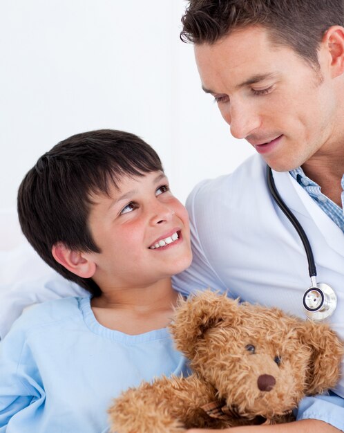
POLYGON ((343 344, 327 324, 310 320, 300 323, 298 335, 301 344, 309 347, 312 353, 305 392, 308 395, 321 394, 338 382, 344 353, 343 344))

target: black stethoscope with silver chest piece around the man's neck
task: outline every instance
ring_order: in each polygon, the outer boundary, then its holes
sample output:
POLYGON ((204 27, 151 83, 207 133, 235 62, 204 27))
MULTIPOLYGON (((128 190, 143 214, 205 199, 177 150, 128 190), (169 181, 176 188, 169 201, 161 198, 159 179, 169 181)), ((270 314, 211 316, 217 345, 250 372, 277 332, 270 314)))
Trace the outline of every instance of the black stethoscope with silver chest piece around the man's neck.
POLYGON ((305 313, 309 319, 320 322, 321 320, 327 319, 337 306, 336 293, 331 286, 325 283, 316 282, 316 265, 314 262, 313 251, 310 246, 305 230, 303 230, 302 225, 298 222, 296 216, 287 207, 283 199, 278 194, 274 176, 272 175, 272 170, 267 165, 267 185, 269 187, 269 192, 271 196, 274 197, 278 207, 283 211, 287 219, 294 225, 298 236, 300 237, 308 261, 309 277, 311 278, 311 286, 303 294, 303 308, 305 308, 305 313))

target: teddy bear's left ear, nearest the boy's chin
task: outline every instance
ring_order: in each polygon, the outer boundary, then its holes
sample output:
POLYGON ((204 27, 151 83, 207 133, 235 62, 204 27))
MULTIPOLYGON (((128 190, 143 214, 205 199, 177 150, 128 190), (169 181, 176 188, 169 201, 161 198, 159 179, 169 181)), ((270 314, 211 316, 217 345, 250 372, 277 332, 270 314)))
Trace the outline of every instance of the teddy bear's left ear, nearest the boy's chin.
POLYGON ((174 320, 169 326, 175 346, 188 357, 192 357, 195 344, 210 328, 224 321, 227 324, 240 321, 239 308, 238 300, 210 290, 195 293, 187 300, 180 300, 174 320))

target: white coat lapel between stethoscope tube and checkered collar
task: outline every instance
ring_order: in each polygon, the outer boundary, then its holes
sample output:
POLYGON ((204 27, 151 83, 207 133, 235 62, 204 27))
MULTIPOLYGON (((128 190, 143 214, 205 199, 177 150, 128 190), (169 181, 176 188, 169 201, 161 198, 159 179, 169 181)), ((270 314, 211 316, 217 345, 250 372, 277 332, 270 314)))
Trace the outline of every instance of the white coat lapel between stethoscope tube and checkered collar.
MULTIPOLYGON (((323 235, 329 248, 344 255, 344 234, 342 230, 315 203, 312 197, 298 185, 289 172, 275 172, 274 181, 285 204, 298 218, 298 214, 313 219, 320 234, 323 235)), ((304 229, 305 230, 305 229, 304 229)), ((307 234, 307 230, 305 230, 307 234)))

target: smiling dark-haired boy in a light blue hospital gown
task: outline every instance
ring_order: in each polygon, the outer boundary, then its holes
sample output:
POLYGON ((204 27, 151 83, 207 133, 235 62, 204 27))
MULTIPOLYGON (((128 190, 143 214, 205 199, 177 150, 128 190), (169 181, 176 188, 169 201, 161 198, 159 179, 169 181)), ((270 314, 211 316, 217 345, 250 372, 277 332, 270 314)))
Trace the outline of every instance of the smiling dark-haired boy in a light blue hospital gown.
POLYGON ((189 221, 159 157, 130 133, 91 131, 41 156, 19 188, 23 233, 90 292, 29 308, 0 346, 0 432, 105 432, 112 398, 187 374, 166 329, 191 262, 189 221))

